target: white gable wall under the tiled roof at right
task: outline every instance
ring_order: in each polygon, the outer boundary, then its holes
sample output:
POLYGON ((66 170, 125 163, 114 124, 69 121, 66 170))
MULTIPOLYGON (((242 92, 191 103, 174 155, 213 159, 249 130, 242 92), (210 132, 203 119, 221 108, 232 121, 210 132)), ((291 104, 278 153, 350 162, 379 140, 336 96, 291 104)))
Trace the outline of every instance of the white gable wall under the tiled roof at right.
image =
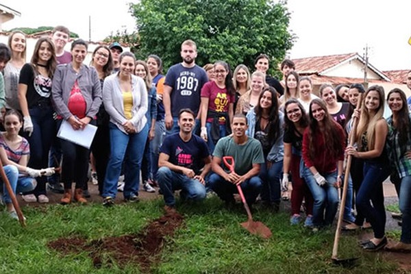
MULTIPOLYGON (((379 75, 371 69, 367 69, 366 73, 367 79, 381 79, 379 75)), ((339 66, 335 66, 334 69, 321 73, 321 75, 361 79, 364 78, 364 65, 358 60, 351 60, 349 62, 343 62, 339 66)))

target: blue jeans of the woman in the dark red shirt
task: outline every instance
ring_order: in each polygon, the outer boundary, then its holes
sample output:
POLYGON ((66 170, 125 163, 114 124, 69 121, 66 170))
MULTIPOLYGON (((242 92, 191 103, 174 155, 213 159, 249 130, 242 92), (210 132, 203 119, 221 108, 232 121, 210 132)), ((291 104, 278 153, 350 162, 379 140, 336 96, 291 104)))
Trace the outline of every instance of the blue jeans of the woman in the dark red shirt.
POLYGON ((312 208, 312 223, 314 223, 314 226, 332 225, 338 210, 338 190, 334 186, 337 182, 337 171, 321 175, 327 180, 325 186, 319 186, 316 183, 310 169, 305 167, 303 171, 303 177, 314 199, 312 208))

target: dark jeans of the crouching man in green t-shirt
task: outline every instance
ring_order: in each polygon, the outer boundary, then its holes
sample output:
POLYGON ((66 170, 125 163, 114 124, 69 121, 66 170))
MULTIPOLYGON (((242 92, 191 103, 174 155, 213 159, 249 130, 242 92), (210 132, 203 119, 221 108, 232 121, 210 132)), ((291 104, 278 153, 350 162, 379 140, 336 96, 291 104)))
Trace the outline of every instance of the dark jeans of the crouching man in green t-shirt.
MULTIPOLYGON (((258 176, 251 177, 240 184, 241 190, 244 193, 245 200, 249 205, 256 202, 258 194, 262 187, 262 180, 258 176)), ((210 187, 220 199, 226 202, 234 201, 233 194, 238 193, 237 186, 231 182, 225 181, 223 177, 216 173, 212 173, 208 178, 208 187, 210 187)))

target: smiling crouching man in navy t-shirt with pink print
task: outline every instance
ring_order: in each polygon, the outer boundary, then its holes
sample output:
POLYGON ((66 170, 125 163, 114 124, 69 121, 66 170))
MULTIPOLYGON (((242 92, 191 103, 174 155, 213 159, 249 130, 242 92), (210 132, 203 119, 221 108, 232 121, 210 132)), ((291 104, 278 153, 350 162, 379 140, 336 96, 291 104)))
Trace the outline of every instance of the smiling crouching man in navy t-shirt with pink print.
POLYGON ((157 180, 166 211, 175 208, 174 190, 182 190, 182 199, 198 201, 206 197, 204 178, 210 171, 211 157, 206 142, 192 134, 194 124, 194 112, 188 108, 180 110, 179 132, 166 136, 160 148, 157 180))

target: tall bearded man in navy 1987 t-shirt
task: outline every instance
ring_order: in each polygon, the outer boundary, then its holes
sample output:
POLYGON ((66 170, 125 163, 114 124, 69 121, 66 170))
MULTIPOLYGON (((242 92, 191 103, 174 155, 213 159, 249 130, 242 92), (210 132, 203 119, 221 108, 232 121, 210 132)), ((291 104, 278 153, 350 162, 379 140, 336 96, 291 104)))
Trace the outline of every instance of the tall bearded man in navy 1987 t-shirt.
POLYGON ((190 108, 196 115, 195 129, 199 127, 200 93, 208 82, 206 71, 195 64, 197 46, 192 40, 182 43, 182 63, 171 66, 164 81, 164 121, 167 134, 179 132, 177 116, 182 108, 190 108))

